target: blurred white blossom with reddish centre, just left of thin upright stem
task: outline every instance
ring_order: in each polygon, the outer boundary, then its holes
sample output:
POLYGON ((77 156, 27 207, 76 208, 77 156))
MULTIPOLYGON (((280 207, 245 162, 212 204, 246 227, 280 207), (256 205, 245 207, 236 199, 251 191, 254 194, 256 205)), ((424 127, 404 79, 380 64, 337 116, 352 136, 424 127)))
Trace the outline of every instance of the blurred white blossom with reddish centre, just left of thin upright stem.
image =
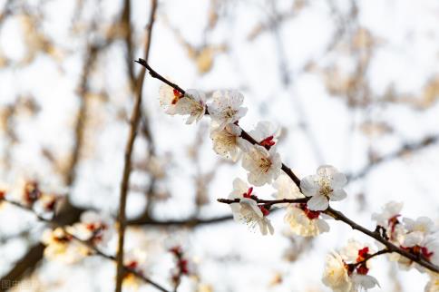
POLYGON ((113 220, 94 211, 86 211, 81 215, 81 222, 67 229, 69 233, 82 240, 89 240, 94 245, 106 246, 114 234, 113 220))

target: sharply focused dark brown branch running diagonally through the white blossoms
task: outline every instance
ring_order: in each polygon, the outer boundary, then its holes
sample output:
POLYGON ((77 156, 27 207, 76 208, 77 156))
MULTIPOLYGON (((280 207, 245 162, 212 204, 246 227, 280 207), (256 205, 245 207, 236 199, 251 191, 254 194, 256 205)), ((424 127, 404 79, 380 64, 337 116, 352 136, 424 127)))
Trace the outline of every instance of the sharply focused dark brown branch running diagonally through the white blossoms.
MULTIPOLYGON (((139 59, 139 61, 137 61, 137 63, 140 63, 141 65, 143 65, 145 68, 147 68, 150 71, 150 74, 153 78, 157 78, 159 80, 161 80, 164 83, 167 83, 168 85, 170 85, 172 88, 178 90, 179 92, 181 92, 182 94, 184 94, 184 91, 182 89, 180 89, 180 87, 174 83, 171 83, 169 81, 167 81, 164 77, 162 77, 159 73, 155 72, 150 65, 148 65, 148 63, 145 60, 139 59)), ((206 111, 207 113, 209 113, 208 111, 206 111)), ((259 144, 258 141, 254 140, 251 136, 249 136, 249 134, 246 131, 242 131, 243 134, 241 134, 241 137, 247 141, 249 141, 252 144, 259 144)), ((285 168, 287 170, 290 170, 287 166, 285 166, 285 168)), ((282 170, 284 170, 284 167, 282 167, 282 170)), ((293 180, 296 185, 298 187, 300 187, 300 179, 298 179, 298 177, 294 174, 293 171, 286 171, 284 170, 284 172, 286 172, 288 174, 288 176, 291 178, 291 180, 293 180)), ((304 200, 304 199, 302 199, 304 200)), ((275 200, 264 200, 264 203, 269 203, 269 202, 273 202, 275 200)), ((223 202, 223 203, 228 203, 228 200, 225 199, 219 199, 219 202, 223 202)), ((237 199, 237 201, 233 200, 231 202, 239 202, 239 199, 237 199)), ((278 202, 276 202, 278 203, 278 202)), ((274 203, 273 203, 274 204, 274 203)), ((364 227, 362 227, 361 225, 358 225, 356 222, 354 222, 351 219, 348 219, 342 212, 337 211, 336 209, 332 209, 331 207, 328 207, 325 211, 324 211, 327 215, 333 217, 336 220, 340 220, 344 223, 346 223, 347 225, 349 225, 352 229, 356 229, 364 234, 366 234, 367 236, 371 237, 371 238, 375 238, 377 241, 381 242, 382 244, 385 245, 385 248, 387 248, 389 250, 389 252, 395 252, 400 254, 401 256, 408 258, 416 263, 418 263, 419 265, 423 266, 424 268, 428 268, 436 273, 439 273, 439 267, 436 267, 434 264, 426 261, 424 258, 419 258, 417 256, 415 256, 414 254, 402 249, 402 248, 398 248, 396 247, 393 243, 391 243, 390 241, 387 241, 385 238, 383 238, 379 232, 376 231, 370 231, 369 229, 366 229, 364 227)))

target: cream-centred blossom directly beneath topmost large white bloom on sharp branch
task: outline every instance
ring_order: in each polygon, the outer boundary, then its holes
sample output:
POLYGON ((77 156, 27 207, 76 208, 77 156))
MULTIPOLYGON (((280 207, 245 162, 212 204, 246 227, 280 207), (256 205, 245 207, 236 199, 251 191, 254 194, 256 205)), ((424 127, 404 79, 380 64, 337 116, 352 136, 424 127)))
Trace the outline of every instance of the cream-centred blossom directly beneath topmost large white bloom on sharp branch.
POLYGON ((251 144, 240 138, 239 126, 229 123, 222 130, 211 128, 210 139, 213 141, 213 150, 232 161, 238 161, 240 151, 249 151, 251 144))

